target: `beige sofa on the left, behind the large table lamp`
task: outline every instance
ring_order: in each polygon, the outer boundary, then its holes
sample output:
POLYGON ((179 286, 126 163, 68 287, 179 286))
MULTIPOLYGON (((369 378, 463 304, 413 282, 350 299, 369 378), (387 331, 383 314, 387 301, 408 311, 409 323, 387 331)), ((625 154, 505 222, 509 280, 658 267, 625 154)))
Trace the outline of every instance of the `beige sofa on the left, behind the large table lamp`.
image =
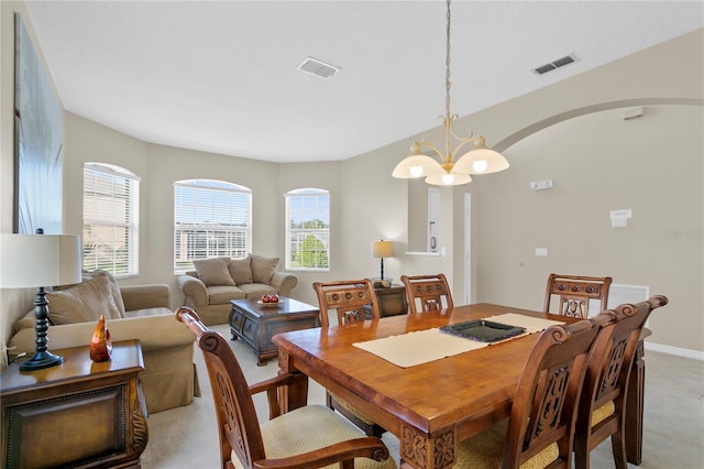
MULTIPOLYGON (((140 373, 150 413, 188 405, 200 395, 194 364, 194 336, 170 310, 165 284, 120 286, 107 272, 85 273, 80 284, 47 293, 51 350, 88 346, 100 314, 113 342, 139 339, 144 358, 140 373)), ((35 351, 34 310, 15 324, 9 360, 35 351)))

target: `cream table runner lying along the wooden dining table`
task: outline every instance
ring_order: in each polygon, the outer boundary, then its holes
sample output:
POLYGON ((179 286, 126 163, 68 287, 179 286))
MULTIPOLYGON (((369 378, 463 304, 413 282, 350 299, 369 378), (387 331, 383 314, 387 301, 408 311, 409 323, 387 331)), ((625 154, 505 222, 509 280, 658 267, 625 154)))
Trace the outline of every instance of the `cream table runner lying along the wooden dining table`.
MULTIPOLYGON (((541 319, 514 313, 485 317, 483 319, 509 326, 524 327, 526 332, 516 337, 539 332, 556 324, 564 324, 557 320, 541 319)), ((516 337, 506 340, 512 340, 516 337)), ((435 328, 353 345, 398 367, 408 368, 441 358, 452 357, 458 353, 464 353, 465 351, 481 349, 487 347, 490 343, 441 332, 440 329, 435 328)))

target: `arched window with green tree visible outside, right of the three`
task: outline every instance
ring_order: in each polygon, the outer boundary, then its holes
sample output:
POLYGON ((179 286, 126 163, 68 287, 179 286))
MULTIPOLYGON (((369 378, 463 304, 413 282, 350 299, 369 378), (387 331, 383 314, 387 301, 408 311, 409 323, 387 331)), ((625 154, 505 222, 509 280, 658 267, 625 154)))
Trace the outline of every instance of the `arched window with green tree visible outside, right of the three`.
POLYGON ((304 188, 286 194, 286 269, 330 270, 330 193, 304 188))

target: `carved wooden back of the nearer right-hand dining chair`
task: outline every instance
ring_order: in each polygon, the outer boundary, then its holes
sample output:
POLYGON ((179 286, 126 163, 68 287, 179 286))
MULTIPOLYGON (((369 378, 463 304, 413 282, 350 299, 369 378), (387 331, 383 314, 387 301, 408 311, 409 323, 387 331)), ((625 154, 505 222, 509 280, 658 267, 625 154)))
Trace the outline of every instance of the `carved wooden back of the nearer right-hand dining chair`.
POLYGON ((550 467, 569 467, 588 355, 601 327, 593 320, 543 330, 518 381, 503 467, 518 468, 557 443, 550 467))

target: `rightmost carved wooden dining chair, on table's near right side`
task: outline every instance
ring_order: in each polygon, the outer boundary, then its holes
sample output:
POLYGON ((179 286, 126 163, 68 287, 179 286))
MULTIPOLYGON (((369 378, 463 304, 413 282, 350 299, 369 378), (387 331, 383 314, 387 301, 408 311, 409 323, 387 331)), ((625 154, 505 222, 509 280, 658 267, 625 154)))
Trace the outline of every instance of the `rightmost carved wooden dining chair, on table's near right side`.
POLYGON ((609 436, 616 468, 626 469, 624 429, 628 417, 625 410, 630 372, 636 350, 641 346, 640 334, 648 316, 667 304, 666 296, 656 295, 636 305, 624 304, 600 315, 615 315, 617 321, 613 334, 597 338, 590 358, 574 436, 578 469, 590 467, 591 450, 609 436))

